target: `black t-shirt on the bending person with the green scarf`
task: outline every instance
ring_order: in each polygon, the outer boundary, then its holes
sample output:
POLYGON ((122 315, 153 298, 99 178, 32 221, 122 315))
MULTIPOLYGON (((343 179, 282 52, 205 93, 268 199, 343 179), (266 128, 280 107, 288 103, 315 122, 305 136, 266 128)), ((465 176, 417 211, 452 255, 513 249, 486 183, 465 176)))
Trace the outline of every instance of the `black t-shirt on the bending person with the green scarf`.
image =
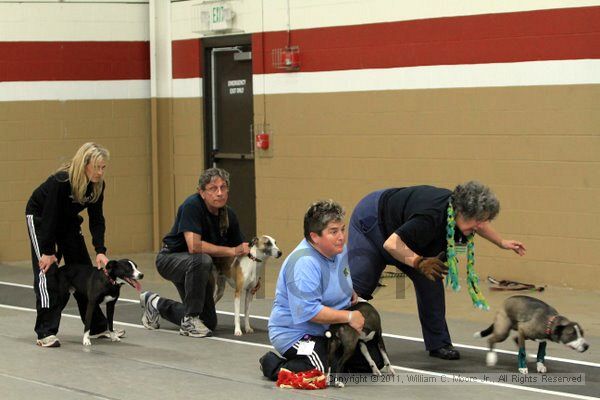
MULTIPOLYGON (((384 237, 396 233, 424 257, 434 257, 447 247, 447 209, 452 192, 433 186, 388 189, 379 199, 379 221, 384 237)), ((455 240, 466 242, 459 229, 455 240)))

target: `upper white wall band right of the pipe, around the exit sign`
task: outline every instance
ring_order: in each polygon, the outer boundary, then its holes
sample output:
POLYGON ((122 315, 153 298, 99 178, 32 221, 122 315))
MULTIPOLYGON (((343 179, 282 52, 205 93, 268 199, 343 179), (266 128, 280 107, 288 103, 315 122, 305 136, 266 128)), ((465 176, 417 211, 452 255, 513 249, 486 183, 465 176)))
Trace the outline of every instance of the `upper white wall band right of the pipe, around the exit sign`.
MULTIPOLYGON (((194 32, 193 19, 201 0, 172 3, 172 39, 203 36, 194 32)), ((599 0, 282 0, 228 2, 234 13, 238 33, 310 29, 329 26, 362 25, 463 15, 495 14, 600 5, 599 0), (262 5, 262 6, 261 6, 262 5), (264 10, 263 10, 264 7, 264 10), (264 20, 263 20, 264 18, 264 20)), ((207 6, 209 6, 207 4, 207 6)))

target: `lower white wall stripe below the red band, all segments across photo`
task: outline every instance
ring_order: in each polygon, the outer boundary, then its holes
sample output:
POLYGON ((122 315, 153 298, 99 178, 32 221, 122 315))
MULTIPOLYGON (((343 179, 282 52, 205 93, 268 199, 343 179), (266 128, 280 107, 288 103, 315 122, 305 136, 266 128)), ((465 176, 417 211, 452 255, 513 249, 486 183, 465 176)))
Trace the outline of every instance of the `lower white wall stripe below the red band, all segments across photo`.
MULTIPOLYGON (((174 79, 173 98, 202 97, 202 78, 174 79)), ((600 60, 254 75, 255 95, 600 84, 600 60)), ((149 80, 0 82, 0 101, 149 99, 149 80)))

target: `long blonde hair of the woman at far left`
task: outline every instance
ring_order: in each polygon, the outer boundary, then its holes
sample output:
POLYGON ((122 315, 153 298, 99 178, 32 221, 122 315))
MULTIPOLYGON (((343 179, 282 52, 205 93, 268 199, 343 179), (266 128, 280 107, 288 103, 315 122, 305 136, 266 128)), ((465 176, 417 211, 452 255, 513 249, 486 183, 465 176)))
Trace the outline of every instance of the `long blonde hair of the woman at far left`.
POLYGON ((73 199, 79 204, 84 204, 86 200, 90 203, 95 203, 102 194, 102 188, 104 182, 101 179, 99 182, 92 183, 92 198, 86 199, 85 193, 87 191, 88 184, 90 183, 89 178, 85 173, 85 167, 88 164, 92 164, 94 167, 98 165, 100 161, 107 161, 110 157, 110 153, 104 147, 99 144, 88 142, 77 150, 73 159, 69 162, 64 163, 57 172, 68 172, 69 182, 71 182, 71 194, 73 199))

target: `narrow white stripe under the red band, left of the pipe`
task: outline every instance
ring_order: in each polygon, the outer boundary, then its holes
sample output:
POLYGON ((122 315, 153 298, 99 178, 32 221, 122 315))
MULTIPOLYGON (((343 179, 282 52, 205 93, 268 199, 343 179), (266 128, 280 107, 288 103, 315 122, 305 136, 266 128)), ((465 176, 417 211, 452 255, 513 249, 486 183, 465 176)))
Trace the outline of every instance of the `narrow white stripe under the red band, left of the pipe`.
POLYGON ((149 80, 0 82, 0 101, 149 98, 149 80))

